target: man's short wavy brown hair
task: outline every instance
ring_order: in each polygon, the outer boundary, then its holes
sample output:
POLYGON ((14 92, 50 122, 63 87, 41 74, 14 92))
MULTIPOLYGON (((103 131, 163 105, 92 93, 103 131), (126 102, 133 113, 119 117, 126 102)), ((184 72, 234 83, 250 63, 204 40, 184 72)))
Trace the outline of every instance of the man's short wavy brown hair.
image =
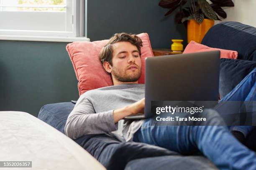
POLYGON ((108 43, 101 49, 99 59, 102 64, 106 61, 112 65, 112 58, 113 58, 113 44, 115 42, 131 42, 132 45, 135 45, 139 51, 141 56, 141 47, 142 47, 142 40, 135 34, 128 34, 125 32, 116 33, 113 37, 110 38, 108 43))

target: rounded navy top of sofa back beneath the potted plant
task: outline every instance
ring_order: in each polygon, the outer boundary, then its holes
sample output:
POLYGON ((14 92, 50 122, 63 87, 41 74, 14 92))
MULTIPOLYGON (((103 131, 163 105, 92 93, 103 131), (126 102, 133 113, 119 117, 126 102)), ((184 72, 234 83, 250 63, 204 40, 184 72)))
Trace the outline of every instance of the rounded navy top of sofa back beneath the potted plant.
POLYGON ((256 28, 238 22, 214 25, 202 40, 203 45, 234 50, 238 59, 256 61, 256 28))

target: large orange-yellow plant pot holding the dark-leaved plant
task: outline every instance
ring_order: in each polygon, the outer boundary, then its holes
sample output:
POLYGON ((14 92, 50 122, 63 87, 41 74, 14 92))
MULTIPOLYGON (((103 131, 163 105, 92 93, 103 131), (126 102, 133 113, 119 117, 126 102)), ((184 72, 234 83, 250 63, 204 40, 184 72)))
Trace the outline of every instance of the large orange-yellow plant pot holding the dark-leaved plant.
POLYGON ((214 20, 204 19, 202 24, 197 23, 195 20, 187 21, 187 43, 195 41, 202 42, 206 32, 214 25, 214 20))

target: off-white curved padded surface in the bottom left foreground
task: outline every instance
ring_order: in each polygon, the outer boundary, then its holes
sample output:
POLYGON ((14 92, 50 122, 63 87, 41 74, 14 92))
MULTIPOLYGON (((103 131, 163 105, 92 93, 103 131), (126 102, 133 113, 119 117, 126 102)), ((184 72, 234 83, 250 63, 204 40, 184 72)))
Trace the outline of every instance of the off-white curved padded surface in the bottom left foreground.
POLYGON ((72 139, 26 112, 0 112, 0 161, 32 161, 22 170, 105 170, 72 139))

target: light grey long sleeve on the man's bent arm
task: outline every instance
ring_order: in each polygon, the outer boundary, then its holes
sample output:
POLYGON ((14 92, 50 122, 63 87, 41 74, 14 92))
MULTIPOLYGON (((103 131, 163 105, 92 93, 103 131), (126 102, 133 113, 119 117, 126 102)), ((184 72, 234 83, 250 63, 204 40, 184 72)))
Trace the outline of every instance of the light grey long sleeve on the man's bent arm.
POLYGON ((114 123, 113 110, 95 113, 92 103, 84 96, 79 97, 65 125, 65 133, 72 139, 115 130, 117 126, 114 123))

